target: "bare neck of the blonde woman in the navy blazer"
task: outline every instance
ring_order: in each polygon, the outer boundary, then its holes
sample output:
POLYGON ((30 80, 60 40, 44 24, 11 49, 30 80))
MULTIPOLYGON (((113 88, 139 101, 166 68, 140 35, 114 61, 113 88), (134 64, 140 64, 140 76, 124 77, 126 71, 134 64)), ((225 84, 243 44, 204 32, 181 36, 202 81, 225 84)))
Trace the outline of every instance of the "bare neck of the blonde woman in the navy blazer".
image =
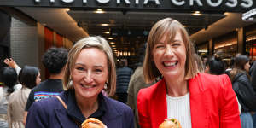
POLYGON ((87 119, 92 113, 96 112, 98 108, 97 96, 92 99, 83 99, 79 97, 81 96, 76 95, 77 104, 84 117, 87 119))

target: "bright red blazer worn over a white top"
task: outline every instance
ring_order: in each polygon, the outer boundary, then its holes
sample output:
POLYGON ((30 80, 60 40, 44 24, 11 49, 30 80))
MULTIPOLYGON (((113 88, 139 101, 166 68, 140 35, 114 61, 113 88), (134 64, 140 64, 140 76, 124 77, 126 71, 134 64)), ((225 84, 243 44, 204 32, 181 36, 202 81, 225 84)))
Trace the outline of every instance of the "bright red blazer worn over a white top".
MULTIPOLYGON (((192 128, 241 128, 236 94, 227 75, 198 73, 189 79, 192 128)), ((141 128, 158 128, 167 118, 166 82, 139 91, 141 128)))

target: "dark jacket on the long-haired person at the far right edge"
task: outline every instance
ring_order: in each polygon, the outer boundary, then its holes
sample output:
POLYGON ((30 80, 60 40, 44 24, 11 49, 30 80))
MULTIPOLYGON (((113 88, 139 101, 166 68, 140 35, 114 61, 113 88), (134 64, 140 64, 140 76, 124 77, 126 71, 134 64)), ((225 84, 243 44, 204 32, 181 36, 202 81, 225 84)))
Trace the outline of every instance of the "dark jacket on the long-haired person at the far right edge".
POLYGON ((233 90, 236 92, 239 103, 241 104, 241 112, 249 112, 255 109, 253 102, 256 102, 255 92, 251 85, 250 79, 246 73, 237 73, 232 80, 233 90))

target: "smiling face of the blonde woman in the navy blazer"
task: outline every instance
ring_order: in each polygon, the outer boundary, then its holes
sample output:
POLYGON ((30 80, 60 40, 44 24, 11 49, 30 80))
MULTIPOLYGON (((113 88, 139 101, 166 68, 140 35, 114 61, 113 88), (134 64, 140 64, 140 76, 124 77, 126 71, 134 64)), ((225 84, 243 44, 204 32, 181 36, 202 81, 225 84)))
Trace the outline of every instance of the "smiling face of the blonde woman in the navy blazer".
POLYGON ((97 48, 82 49, 71 71, 73 88, 79 98, 96 98, 108 79, 108 59, 97 48))

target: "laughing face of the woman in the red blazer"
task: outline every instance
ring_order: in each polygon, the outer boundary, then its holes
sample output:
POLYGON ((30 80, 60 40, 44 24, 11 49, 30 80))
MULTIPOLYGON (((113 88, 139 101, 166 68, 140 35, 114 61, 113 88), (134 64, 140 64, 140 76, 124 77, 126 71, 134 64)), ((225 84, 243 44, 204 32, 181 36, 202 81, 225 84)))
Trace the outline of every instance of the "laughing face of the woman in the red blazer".
POLYGON ((166 38, 165 35, 154 44, 154 64, 165 78, 184 77, 186 48, 181 32, 177 32, 171 41, 166 38))

